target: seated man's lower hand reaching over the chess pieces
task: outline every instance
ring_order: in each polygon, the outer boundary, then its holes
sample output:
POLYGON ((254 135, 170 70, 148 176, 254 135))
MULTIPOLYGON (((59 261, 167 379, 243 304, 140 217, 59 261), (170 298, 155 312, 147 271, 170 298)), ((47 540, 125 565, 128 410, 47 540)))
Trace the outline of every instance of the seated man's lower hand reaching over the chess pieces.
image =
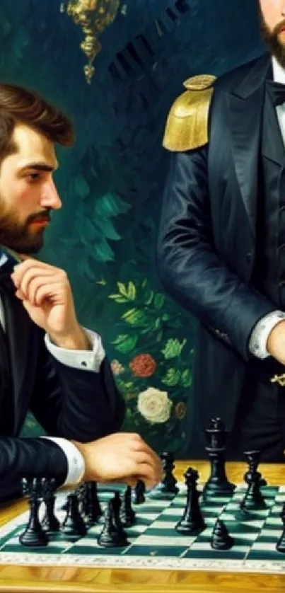
POLYGON ((161 481, 161 460, 139 434, 117 432, 91 443, 72 442, 83 455, 86 481, 135 485, 143 480, 147 488, 161 481))

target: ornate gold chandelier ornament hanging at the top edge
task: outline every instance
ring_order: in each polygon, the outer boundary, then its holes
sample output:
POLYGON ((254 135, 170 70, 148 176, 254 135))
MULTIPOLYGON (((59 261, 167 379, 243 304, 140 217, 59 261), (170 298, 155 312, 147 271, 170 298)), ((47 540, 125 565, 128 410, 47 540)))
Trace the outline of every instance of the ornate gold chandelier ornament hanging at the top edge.
POLYGON ((88 84, 91 84, 95 73, 95 57, 102 47, 98 37, 115 21, 120 4, 121 0, 67 0, 67 4, 60 6, 60 11, 66 12, 76 25, 80 25, 85 35, 80 46, 88 57, 88 64, 84 66, 88 84))

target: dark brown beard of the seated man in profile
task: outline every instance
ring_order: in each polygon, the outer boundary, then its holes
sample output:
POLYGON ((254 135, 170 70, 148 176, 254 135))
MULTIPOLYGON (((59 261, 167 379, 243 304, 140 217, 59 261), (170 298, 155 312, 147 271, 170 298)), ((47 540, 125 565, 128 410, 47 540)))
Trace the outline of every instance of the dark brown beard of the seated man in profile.
POLYGON ((30 231, 29 219, 25 223, 16 220, 13 214, 2 214, 0 209, 0 245, 17 253, 33 254, 40 251, 43 245, 44 229, 30 231))

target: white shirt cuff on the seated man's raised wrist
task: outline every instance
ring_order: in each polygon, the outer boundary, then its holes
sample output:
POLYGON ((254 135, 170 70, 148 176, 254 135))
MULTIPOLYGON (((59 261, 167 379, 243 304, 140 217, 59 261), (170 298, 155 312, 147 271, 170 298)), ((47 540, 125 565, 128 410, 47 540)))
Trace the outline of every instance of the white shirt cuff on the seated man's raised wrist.
POLYGON ((105 358, 105 350, 103 348, 102 340, 98 333, 83 328, 93 346, 92 350, 67 350, 66 348, 59 348, 52 344, 49 336, 45 335, 45 345, 52 356, 66 367, 73 367, 74 369, 86 369, 86 371, 100 371, 100 366, 105 358))

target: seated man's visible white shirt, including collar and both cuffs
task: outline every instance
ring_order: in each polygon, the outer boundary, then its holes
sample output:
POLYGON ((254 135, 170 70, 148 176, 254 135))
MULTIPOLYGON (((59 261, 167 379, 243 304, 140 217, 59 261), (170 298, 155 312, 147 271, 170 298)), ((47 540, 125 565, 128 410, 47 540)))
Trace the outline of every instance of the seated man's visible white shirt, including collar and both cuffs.
MULTIPOLYGON (((6 250, 8 251, 8 250, 6 250)), ((11 252, 13 258, 17 259, 17 254, 11 252)), ((0 258, 0 267, 7 261, 7 255, 2 253, 0 258)), ((20 261, 20 260, 18 260, 20 261)), ((4 307, 0 297, 0 323, 4 331, 6 331, 6 323, 4 316, 4 307)), ((45 345, 47 350, 50 351, 52 356, 66 364, 67 367, 74 367, 74 369, 84 369, 86 372, 98 373, 100 366, 105 358, 105 350, 102 345, 102 340, 98 333, 84 328, 88 338, 93 346, 92 350, 67 350, 65 348, 59 348, 52 344, 49 336, 45 335, 45 345)), ((81 452, 78 451, 77 447, 67 439, 60 437, 42 437, 44 439, 50 439, 55 442, 64 451, 67 459, 67 476, 64 485, 76 485, 83 478, 85 471, 85 464, 81 452)))

